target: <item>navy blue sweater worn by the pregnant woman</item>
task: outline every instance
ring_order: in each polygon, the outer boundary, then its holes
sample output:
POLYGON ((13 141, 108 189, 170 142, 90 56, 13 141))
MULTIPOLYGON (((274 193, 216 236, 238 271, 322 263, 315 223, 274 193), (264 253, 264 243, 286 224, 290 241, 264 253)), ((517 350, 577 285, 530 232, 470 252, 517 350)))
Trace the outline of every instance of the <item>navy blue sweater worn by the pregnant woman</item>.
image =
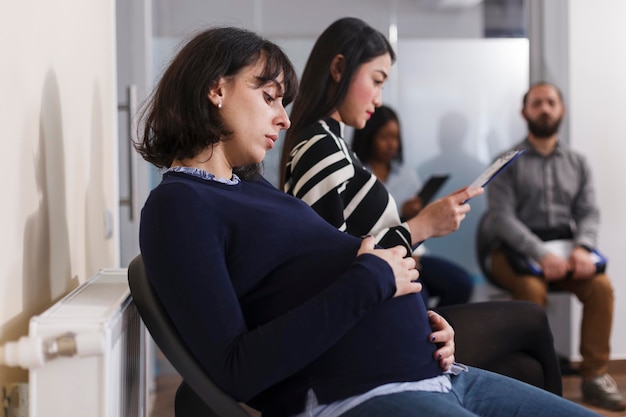
POLYGON ((389 265, 264 179, 167 173, 140 246, 182 337, 227 393, 264 416, 441 374, 419 295, 389 265))

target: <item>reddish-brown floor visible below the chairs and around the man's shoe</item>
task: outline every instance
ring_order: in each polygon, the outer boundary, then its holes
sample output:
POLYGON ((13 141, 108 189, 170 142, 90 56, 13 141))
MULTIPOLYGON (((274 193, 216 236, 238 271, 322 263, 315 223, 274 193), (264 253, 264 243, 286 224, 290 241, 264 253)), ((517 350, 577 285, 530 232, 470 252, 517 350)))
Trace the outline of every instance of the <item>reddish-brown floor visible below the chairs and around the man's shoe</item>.
MULTIPOLYGON (((157 359, 159 363, 159 376, 157 377, 157 388, 152 406, 153 411, 150 417, 174 417, 174 394, 176 393, 176 388, 181 378, 162 355, 157 354, 157 359)), ((622 394, 626 396, 626 361, 612 362, 609 371, 620 387, 622 394)), ((582 403, 580 377, 563 377, 563 396, 577 403, 582 403)), ((604 417, 626 416, 626 412, 610 412, 591 406, 587 407, 604 417)))

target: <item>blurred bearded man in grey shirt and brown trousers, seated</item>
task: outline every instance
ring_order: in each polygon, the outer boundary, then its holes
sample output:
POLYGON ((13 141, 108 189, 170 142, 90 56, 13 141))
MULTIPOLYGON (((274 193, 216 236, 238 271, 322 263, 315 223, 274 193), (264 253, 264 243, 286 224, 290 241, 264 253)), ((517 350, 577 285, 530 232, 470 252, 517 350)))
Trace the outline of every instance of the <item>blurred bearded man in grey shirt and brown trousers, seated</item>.
POLYGON ((574 293, 583 303, 580 353, 583 400, 608 410, 626 405, 607 373, 613 321, 613 288, 596 269, 599 214, 591 171, 585 158, 558 141, 565 112, 561 92, 537 83, 523 99, 528 136, 516 149, 526 153, 487 187, 488 212, 479 238, 490 253, 492 280, 509 289, 516 300, 547 302, 547 291, 574 293), (550 252, 545 242, 569 239, 571 252, 550 252), (516 255, 533 260, 539 273, 524 272, 516 255))

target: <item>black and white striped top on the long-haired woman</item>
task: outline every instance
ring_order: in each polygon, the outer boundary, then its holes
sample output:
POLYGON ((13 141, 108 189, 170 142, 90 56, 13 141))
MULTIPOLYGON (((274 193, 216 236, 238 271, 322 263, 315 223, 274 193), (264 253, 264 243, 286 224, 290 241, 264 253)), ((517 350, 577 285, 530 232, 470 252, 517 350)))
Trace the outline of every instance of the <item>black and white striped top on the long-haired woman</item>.
POLYGON ((343 123, 332 118, 302 129, 286 166, 284 191, 305 201, 333 226, 372 235, 389 248, 411 252, 411 234, 393 197, 348 148, 343 123))

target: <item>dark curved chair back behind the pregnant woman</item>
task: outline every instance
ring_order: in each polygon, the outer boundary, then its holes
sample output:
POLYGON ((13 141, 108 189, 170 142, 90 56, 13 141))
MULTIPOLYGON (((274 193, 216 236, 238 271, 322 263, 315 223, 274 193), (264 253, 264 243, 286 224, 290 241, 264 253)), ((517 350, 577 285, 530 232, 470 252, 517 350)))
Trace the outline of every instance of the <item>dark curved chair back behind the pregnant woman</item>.
POLYGON ((215 385, 189 351, 154 292, 141 255, 128 266, 128 283, 152 338, 183 378, 176 391, 176 417, 250 417, 239 403, 215 385))

